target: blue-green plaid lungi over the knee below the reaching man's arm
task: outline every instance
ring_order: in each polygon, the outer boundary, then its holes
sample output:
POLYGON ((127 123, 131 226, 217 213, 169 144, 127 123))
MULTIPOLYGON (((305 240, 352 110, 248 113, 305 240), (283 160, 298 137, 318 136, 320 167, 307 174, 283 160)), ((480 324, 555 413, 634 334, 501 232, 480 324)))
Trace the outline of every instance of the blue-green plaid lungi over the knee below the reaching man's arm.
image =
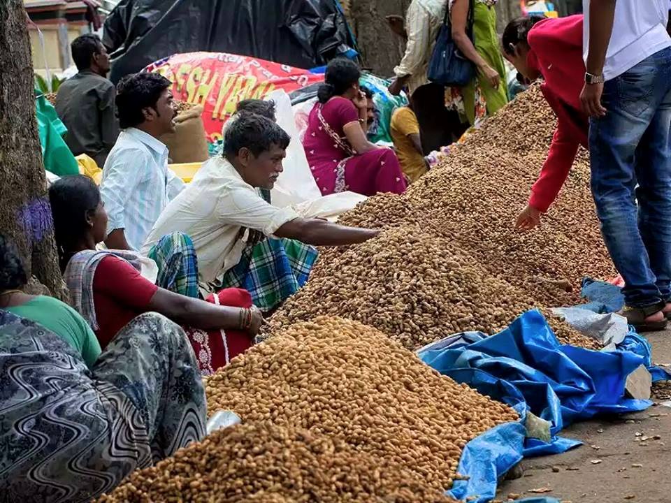
POLYGON ((296 240, 268 238, 248 247, 226 271, 222 288, 243 288, 262 312, 270 312, 308 281, 317 249, 296 240))

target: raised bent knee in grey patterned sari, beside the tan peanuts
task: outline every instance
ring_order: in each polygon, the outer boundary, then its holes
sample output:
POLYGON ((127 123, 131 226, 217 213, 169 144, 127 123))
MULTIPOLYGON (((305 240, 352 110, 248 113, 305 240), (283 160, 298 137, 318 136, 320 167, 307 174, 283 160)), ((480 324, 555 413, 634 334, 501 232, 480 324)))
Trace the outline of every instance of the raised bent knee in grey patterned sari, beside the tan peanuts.
POLYGON ((154 462, 205 436, 207 403, 184 330, 156 313, 138 316, 92 369, 133 402, 146 425, 154 462))

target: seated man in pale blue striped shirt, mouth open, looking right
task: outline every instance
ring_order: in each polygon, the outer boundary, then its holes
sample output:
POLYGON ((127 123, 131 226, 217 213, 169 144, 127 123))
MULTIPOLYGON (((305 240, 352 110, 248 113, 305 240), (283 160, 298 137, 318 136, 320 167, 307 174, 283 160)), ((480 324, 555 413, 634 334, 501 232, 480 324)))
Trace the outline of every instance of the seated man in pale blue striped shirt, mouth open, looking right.
POLYGON ((184 183, 168 169, 159 138, 175 131, 171 82, 156 73, 129 75, 117 86, 122 133, 107 158, 100 185, 109 217, 106 245, 138 250, 184 183))

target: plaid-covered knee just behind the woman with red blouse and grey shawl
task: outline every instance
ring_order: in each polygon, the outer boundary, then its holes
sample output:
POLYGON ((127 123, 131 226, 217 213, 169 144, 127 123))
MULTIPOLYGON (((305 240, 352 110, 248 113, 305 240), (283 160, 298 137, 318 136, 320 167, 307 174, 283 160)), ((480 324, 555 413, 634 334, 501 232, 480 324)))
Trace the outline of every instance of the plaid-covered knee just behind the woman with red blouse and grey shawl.
POLYGON ((183 296, 199 298, 198 257, 188 235, 164 235, 147 256, 159 266, 158 286, 183 296))

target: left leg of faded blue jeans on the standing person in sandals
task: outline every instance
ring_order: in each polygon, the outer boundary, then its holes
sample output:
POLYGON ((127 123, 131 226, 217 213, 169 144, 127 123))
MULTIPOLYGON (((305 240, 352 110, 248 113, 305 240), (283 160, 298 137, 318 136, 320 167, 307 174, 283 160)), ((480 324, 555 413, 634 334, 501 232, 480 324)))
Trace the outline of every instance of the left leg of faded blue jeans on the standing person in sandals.
MULTIPOLYGON (((591 187, 609 254, 626 282, 628 307, 661 302, 656 277, 638 225, 634 198, 635 153, 656 114, 654 61, 643 61, 605 85, 605 117, 591 119, 591 187)), ((666 86, 665 84, 663 84, 666 86)))

